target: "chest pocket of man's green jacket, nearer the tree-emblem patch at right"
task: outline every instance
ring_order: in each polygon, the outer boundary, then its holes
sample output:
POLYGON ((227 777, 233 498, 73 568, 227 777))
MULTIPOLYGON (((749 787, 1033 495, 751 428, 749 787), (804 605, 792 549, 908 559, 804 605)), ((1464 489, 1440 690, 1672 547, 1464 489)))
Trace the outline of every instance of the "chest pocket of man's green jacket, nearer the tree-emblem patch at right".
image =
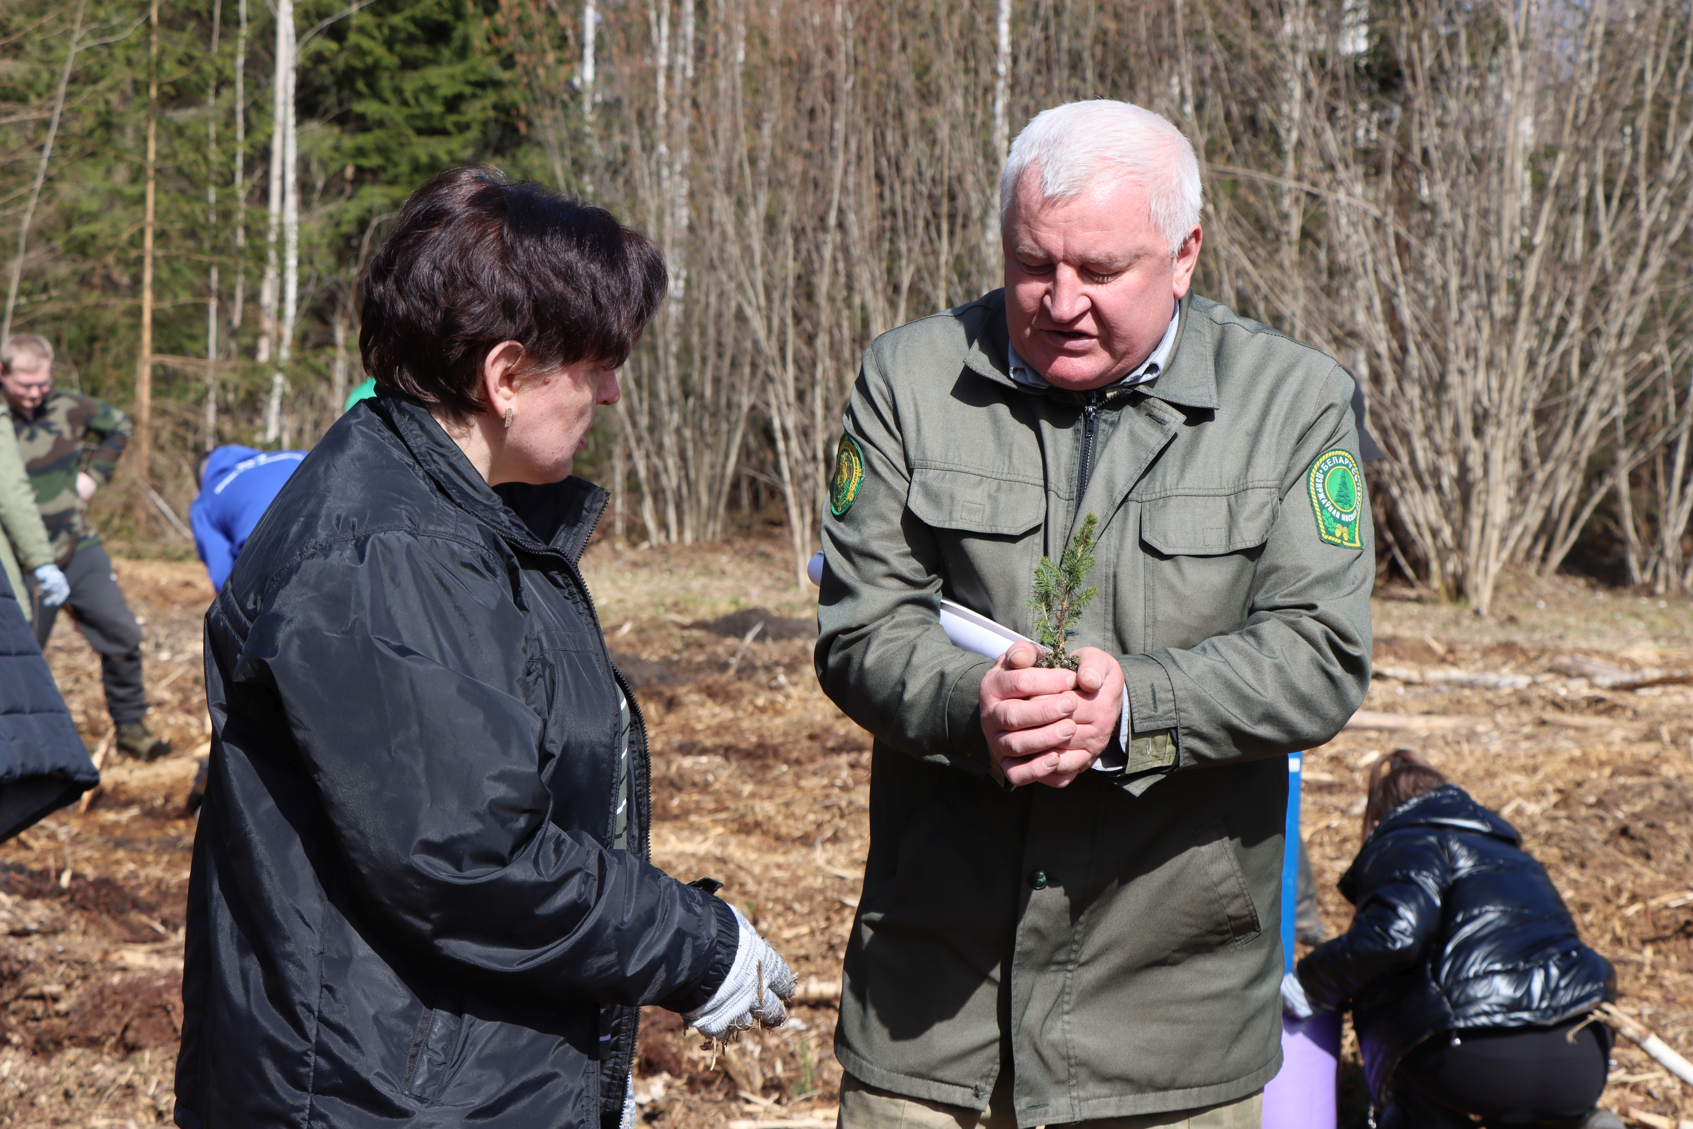
POLYGON ((1238 631, 1277 515, 1273 486, 1168 494, 1141 503, 1146 647, 1187 648, 1238 631))

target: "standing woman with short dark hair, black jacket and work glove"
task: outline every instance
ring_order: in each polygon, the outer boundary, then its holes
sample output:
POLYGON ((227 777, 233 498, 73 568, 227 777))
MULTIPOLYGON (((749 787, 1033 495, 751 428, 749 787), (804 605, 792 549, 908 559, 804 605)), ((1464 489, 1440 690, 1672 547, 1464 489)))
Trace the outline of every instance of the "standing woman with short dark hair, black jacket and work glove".
POLYGON ((378 394, 207 613, 179 1126, 628 1126, 642 1004, 786 1017, 782 958, 647 862, 647 733, 577 570, 606 493, 572 457, 664 288, 608 212, 486 169, 371 262, 378 394))

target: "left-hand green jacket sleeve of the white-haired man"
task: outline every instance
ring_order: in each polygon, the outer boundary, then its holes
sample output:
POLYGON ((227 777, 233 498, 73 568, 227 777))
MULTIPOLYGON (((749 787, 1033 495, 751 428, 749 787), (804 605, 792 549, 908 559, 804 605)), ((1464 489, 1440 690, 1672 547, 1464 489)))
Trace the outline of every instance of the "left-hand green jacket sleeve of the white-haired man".
POLYGON ((836 471, 823 518, 823 692, 904 753, 990 775, 977 699, 992 664, 940 626, 943 567, 933 533, 906 509, 909 462, 875 349, 846 405, 840 459, 846 472, 836 471))

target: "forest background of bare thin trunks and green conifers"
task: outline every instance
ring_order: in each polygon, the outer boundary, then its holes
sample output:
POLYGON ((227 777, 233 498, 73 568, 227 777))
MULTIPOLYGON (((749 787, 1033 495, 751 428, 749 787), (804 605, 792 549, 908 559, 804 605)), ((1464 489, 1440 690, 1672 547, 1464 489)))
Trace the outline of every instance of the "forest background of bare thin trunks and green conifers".
POLYGON ((3 322, 137 415, 103 521, 310 445, 405 196, 494 164, 652 235, 670 296, 584 472, 620 542, 816 542, 877 333, 999 284, 1041 108, 1192 137, 1197 289, 1370 396, 1383 567, 1486 611, 1602 545, 1693 587, 1685 0, 8 0, 3 322))

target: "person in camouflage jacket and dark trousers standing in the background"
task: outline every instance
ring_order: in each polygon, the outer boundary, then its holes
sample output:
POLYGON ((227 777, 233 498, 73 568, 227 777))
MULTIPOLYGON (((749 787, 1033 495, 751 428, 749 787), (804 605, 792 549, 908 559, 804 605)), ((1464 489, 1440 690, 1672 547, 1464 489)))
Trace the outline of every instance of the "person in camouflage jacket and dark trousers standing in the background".
MULTIPOLYGON (((90 647, 100 653, 107 709, 120 752, 154 760, 171 752, 147 730, 147 694, 141 669, 141 625, 119 591, 112 559, 88 520, 88 499, 105 486, 129 443, 134 423, 93 396, 52 386, 52 345, 15 333, 0 345, 0 389, 12 408, 19 454, 36 491, 54 562, 69 581, 66 604, 90 647), (85 455, 88 440, 97 447, 85 455)), ((36 638, 52 635, 58 608, 41 604, 36 638)))

